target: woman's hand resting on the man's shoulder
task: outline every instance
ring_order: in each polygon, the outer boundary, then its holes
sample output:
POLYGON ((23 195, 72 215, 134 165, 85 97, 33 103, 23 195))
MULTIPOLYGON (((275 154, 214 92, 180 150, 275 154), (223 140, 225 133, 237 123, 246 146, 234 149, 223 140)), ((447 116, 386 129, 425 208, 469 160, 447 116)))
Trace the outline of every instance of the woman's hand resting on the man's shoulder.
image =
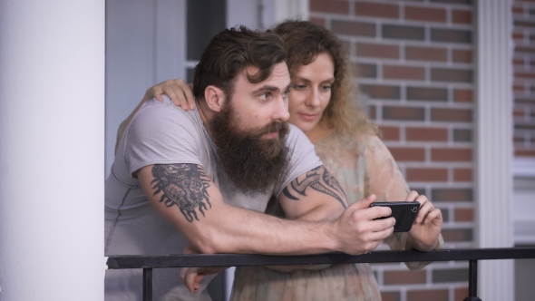
POLYGON ((169 96, 170 100, 176 105, 180 106, 182 110, 188 111, 195 109, 195 98, 193 97, 193 86, 185 83, 183 80, 167 80, 152 86, 145 92, 143 99, 150 100, 155 98, 159 102, 163 102, 162 94, 169 96))

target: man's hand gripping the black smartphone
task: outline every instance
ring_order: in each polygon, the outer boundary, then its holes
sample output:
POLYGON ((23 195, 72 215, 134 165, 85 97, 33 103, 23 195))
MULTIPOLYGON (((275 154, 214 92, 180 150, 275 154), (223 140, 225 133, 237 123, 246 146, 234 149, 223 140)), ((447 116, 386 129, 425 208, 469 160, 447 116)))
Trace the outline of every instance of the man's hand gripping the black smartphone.
POLYGON ((388 207, 369 208, 375 195, 361 199, 344 210, 332 225, 332 235, 338 240, 338 249, 352 255, 367 253, 394 232, 394 218, 384 218, 392 214, 388 207))

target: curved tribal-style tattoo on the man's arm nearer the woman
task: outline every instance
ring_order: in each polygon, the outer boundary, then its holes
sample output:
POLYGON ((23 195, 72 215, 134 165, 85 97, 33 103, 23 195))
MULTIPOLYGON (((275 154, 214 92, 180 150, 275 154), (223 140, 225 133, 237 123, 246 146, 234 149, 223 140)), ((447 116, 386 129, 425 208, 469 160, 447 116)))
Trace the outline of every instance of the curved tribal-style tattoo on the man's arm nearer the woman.
MULTIPOLYGON (((298 178, 296 180, 292 180, 290 182, 290 185, 292 189, 296 190, 296 192, 302 196, 306 197, 306 189, 308 187, 311 187, 312 189, 315 189, 316 191, 325 193, 326 195, 329 195, 342 204, 342 206, 347 208, 345 206, 344 199, 347 199, 345 197, 344 189, 338 184, 338 181, 329 173, 328 170, 326 170, 323 166, 318 166, 314 170, 306 171, 306 176, 304 180, 299 180, 298 178), (340 196, 344 196, 344 199, 340 198, 340 196)), ((282 189, 282 193, 288 198, 288 199, 296 199, 298 200, 296 196, 294 196, 288 189, 285 187, 282 189)))

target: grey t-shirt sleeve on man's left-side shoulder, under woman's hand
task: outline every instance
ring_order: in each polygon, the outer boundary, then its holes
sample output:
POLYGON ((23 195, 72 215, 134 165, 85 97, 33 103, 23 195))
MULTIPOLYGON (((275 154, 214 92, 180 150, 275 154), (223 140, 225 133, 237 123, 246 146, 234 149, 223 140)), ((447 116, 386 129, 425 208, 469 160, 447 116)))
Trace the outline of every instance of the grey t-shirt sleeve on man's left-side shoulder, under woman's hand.
POLYGON ((152 100, 141 108, 127 129, 124 152, 131 175, 152 164, 202 165, 193 112, 155 102, 152 100))

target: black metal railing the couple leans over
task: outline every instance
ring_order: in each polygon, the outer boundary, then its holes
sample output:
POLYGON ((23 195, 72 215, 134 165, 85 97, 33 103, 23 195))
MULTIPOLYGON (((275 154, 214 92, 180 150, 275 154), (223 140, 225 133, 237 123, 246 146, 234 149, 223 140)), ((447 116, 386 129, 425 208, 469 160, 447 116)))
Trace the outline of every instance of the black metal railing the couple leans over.
POLYGON ((265 256, 239 254, 191 254, 168 256, 111 256, 109 269, 142 268, 143 300, 152 300, 152 269, 163 267, 243 267, 350 263, 468 260, 468 295, 464 301, 481 301, 477 296, 478 260, 535 258, 535 248, 473 248, 420 251, 374 251, 359 256, 326 253, 305 256, 265 256))

